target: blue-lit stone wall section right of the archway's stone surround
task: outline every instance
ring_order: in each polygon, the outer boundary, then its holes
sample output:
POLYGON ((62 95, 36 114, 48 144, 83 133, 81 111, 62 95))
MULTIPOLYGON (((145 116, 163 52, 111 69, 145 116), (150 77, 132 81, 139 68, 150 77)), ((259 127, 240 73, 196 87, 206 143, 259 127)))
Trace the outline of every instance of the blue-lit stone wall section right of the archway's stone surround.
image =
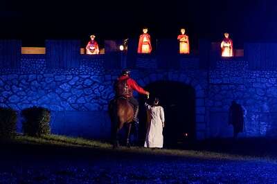
POLYGON ((207 108, 209 136, 229 137, 228 111, 235 100, 244 109, 240 136, 277 136, 277 72, 251 71, 246 61, 220 61, 210 71, 207 108))

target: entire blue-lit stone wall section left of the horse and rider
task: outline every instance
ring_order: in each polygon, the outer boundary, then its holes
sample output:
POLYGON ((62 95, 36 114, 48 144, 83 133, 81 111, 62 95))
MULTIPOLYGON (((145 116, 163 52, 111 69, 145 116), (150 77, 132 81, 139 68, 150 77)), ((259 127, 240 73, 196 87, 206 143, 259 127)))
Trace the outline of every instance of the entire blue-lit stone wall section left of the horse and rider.
POLYGON ((44 57, 25 55, 21 68, 1 68, 0 106, 19 112, 46 107, 51 109, 53 133, 107 137, 107 104, 114 95, 111 84, 116 77, 106 75, 103 62, 102 57, 84 57, 80 68, 47 69, 44 57))

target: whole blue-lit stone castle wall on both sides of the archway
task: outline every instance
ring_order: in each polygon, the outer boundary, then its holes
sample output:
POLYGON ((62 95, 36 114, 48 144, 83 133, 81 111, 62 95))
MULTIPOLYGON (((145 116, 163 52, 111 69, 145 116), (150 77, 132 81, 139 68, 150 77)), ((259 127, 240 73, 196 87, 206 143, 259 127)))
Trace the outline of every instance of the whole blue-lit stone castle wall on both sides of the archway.
MULTIPOLYGON (((159 68, 150 58, 138 59, 132 77, 147 86, 175 81, 195 89, 197 138, 231 137, 228 111, 232 100, 244 108, 240 136, 277 136, 277 72, 252 71, 244 59, 218 61, 211 70, 199 69, 197 57, 179 60, 179 68, 159 68)), ((20 67, 0 69, 0 106, 21 111, 51 109, 55 134, 109 138, 107 104, 120 69, 105 66, 105 57, 83 55, 79 68, 47 68, 45 55, 22 55, 20 67)), ((20 121, 20 119, 19 119, 20 121)), ((20 131, 20 123, 19 123, 20 131)))

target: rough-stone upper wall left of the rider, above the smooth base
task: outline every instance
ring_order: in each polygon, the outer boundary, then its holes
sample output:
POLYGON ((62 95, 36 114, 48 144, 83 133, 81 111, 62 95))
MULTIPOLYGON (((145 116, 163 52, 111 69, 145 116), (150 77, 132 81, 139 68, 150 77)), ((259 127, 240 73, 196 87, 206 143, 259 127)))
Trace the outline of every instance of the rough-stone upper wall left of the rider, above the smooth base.
POLYGON ((24 58, 21 69, 1 71, 1 106, 16 110, 33 105, 53 111, 107 109, 107 100, 113 95, 112 77, 105 75, 102 62, 82 60, 80 68, 46 70, 45 59, 24 58))

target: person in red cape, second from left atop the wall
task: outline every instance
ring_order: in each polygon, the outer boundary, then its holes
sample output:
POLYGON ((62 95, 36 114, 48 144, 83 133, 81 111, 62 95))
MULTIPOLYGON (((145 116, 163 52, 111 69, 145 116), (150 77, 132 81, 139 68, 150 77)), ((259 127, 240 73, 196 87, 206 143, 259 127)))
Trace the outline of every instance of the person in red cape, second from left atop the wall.
POLYGON ((149 54, 152 51, 148 28, 143 28, 143 34, 139 37, 138 53, 149 54))

